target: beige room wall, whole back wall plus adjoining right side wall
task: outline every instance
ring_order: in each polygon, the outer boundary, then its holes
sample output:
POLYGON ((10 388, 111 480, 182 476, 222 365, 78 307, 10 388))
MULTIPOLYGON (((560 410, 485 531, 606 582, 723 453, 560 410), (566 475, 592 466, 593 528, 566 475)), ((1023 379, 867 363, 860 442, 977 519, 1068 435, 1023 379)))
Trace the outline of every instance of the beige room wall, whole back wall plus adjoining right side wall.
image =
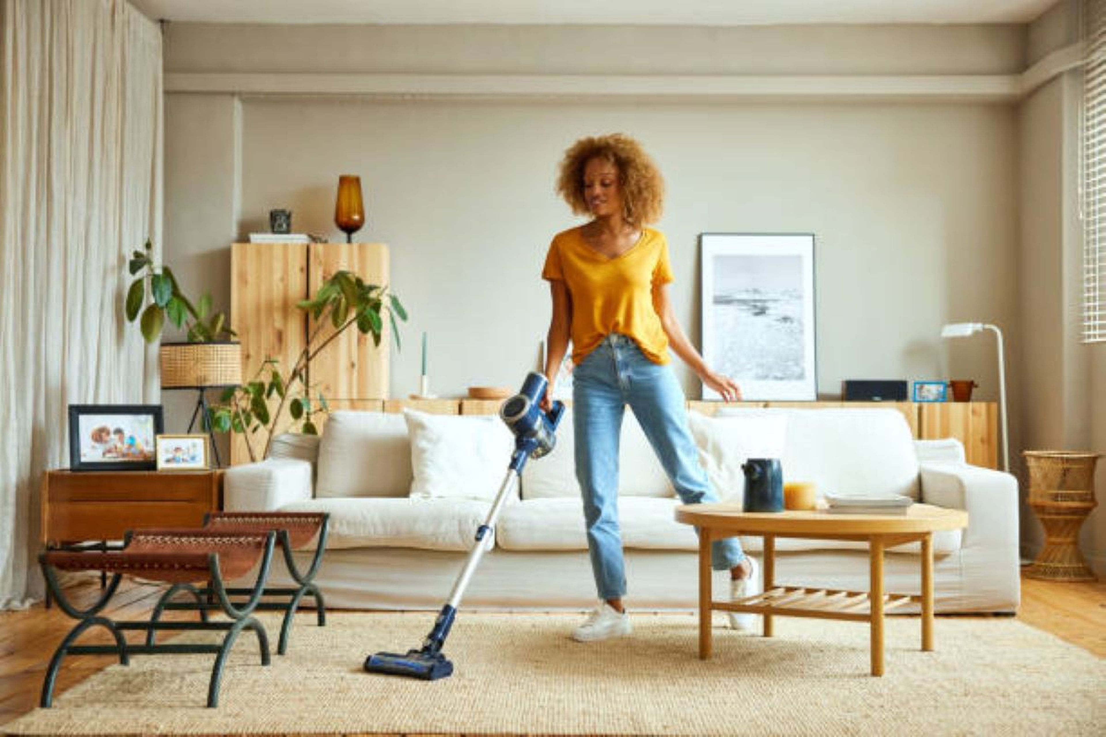
MULTIPOLYGON (((1070 41, 1071 12, 1057 6, 1029 28, 175 24, 166 72, 1016 75, 1070 41)), ((1023 448, 1100 448, 1103 408, 1084 397, 1102 393, 1106 358, 1071 338, 1073 84, 993 105, 169 94, 166 257, 226 306, 229 243, 274 207, 294 211, 296 231, 341 238, 336 178, 358 173, 358 238, 392 246, 393 286, 411 313, 393 396, 417 389, 424 330, 438 393, 513 386, 545 329, 545 246, 574 222, 552 191, 556 160, 580 135, 625 130, 668 180, 660 227, 695 340, 700 232, 813 232, 821 392, 845 378, 956 376, 994 399, 990 335, 938 338, 946 322, 984 320, 1008 339, 1012 460, 1023 448)), ((1099 517, 1086 535, 1100 562, 1099 517)))

